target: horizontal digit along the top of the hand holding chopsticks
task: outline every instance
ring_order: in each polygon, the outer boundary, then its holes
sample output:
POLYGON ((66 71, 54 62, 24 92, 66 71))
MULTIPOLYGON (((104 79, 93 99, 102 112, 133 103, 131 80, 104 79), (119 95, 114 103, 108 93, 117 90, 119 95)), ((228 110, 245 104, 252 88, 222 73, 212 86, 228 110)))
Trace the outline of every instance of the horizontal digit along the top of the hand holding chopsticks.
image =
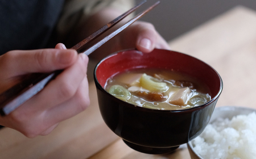
POLYGON ((11 51, 0 58, 3 75, 13 77, 27 73, 52 72, 71 66, 77 59, 72 49, 38 49, 32 51, 11 51))

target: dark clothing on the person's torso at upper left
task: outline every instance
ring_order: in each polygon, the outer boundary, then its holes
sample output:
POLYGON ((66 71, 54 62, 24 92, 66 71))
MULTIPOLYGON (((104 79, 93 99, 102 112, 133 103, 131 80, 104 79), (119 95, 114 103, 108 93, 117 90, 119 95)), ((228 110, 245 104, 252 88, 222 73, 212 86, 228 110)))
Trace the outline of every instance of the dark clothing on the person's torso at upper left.
POLYGON ((64 0, 1 0, 0 55, 15 49, 45 48, 64 0))

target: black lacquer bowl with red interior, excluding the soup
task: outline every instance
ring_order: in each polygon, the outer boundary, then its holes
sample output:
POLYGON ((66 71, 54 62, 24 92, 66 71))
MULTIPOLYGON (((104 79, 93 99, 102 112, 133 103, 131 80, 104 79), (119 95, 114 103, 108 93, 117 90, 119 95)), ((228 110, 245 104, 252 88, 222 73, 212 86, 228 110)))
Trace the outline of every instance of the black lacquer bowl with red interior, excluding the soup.
POLYGON ((151 53, 136 50, 114 53, 97 64, 94 81, 101 115, 108 127, 129 147, 150 154, 171 152, 200 135, 222 91, 221 77, 208 64, 163 49, 154 49, 151 53), (162 68, 187 73, 209 87, 212 99, 185 110, 152 110, 121 101, 104 89, 110 77, 134 68, 162 68))

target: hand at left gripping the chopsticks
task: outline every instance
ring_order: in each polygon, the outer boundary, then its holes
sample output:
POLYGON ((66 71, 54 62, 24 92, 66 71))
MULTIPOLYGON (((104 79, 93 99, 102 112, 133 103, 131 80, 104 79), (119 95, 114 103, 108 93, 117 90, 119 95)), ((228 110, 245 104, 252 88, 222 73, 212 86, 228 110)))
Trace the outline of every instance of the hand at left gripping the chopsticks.
POLYGON ((27 137, 48 135, 59 122, 71 118, 89 106, 88 57, 65 49, 10 51, 0 56, 0 93, 30 73, 64 69, 59 76, 31 99, 7 116, 0 125, 16 129, 27 137))

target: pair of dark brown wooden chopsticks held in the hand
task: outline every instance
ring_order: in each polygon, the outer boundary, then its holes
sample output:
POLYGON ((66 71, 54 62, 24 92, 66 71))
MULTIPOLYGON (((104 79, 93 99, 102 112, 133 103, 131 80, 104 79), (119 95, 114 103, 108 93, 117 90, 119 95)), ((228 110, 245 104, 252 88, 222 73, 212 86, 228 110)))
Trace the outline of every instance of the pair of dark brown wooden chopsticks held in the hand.
MULTIPOLYGON (((123 13, 122 15, 118 16, 112 22, 109 22, 104 27, 100 28, 100 30, 94 32, 92 35, 86 37, 84 40, 80 41, 80 43, 76 44, 72 49, 75 49, 77 52, 79 52, 85 44, 88 44, 90 41, 96 39, 96 37, 102 35, 104 32, 108 31, 110 28, 112 28, 115 24, 120 22, 123 18, 125 18, 127 15, 131 14, 131 12, 138 9, 138 7, 142 6, 143 3, 146 1, 143 1, 139 3, 137 6, 134 6, 129 11, 123 13)), ((125 28, 133 24, 136 20, 141 18, 144 14, 146 14, 148 11, 152 10, 155 6, 157 6, 160 3, 160 1, 156 2, 151 7, 148 7, 148 9, 144 10, 137 16, 135 16, 133 19, 131 19, 129 22, 124 24, 123 26, 119 27, 117 30, 113 31, 108 36, 105 36, 102 40, 98 41, 96 44, 94 44, 92 47, 86 49, 86 51, 82 52, 86 55, 90 55, 93 51, 95 51, 97 48, 101 47, 106 41, 112 39, 115 35, 119 34, 119 32, 123 31, 125 28)), ((44 88, 44 86, 47 85, 47 83, 51 80, 53 80, 58 74, 60 74, 62 70, 57 70, 52 73, 34 73, 25 78, 22 82, 14 85, 9 90, 6 90, 2 94, 0 94, 0 114, 2 116, 10 114, 10 112, 14 111, 15 108, 19 107, 21 104, 26 102, 28 99, 33 97, 35 94, 37 94, 40 90, 44 88)))

